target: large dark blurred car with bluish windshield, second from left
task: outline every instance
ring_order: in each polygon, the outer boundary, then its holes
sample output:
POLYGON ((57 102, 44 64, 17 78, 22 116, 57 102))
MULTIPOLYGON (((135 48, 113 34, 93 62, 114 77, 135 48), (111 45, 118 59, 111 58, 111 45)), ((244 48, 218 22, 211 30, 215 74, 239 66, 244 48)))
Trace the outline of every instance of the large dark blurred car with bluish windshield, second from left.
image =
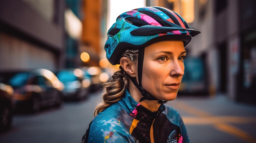
POLYGON ((38 68, 0 73, 0 76, 14 89, 16 110, 39 112, 42 108, 63 104, 63 83, 50 70, 38 68))

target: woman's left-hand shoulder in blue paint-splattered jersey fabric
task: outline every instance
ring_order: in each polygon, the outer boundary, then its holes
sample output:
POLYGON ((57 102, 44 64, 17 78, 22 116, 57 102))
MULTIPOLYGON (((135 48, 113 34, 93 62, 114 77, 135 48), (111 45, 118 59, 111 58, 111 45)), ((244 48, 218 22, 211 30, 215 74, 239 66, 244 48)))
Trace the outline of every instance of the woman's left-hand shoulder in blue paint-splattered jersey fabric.
POLYGON ((121 112, 122 108, 118 104, 113 104, 100 112, 92 121, 88 142, 130 143, 134 141, 119 119, 121 112))

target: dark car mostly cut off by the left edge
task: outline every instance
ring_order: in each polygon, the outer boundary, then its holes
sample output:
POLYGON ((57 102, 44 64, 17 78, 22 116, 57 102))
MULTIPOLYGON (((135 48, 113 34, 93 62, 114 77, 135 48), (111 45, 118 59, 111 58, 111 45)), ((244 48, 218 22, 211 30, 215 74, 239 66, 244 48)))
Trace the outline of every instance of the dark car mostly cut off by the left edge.
POLYGON ((0 83, 0 132, 11 128, 13 120, 13 88, 0 83))

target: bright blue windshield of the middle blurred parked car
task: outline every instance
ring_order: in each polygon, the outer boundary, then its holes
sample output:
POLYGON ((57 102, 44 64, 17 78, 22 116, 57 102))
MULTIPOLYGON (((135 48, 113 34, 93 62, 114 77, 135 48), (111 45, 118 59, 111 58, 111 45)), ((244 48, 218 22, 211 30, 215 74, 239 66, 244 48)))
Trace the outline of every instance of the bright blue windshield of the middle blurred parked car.
POLYGON ((73 74, 73 71, 60 71, 56 74, 56 76, 63 83, 77 80, 77 77, 73 74))

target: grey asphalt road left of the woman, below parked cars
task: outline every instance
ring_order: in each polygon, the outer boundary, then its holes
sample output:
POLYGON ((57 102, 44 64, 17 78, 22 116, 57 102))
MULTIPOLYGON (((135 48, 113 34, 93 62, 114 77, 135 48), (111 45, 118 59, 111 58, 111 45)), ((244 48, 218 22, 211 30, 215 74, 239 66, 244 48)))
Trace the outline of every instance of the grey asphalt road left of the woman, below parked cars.
POLYGON ((65 102, 60 109, 16 114, 11 130, 0 134, 0 143, 81 143, 100 98, 95 92, 85 101, 65 102))

